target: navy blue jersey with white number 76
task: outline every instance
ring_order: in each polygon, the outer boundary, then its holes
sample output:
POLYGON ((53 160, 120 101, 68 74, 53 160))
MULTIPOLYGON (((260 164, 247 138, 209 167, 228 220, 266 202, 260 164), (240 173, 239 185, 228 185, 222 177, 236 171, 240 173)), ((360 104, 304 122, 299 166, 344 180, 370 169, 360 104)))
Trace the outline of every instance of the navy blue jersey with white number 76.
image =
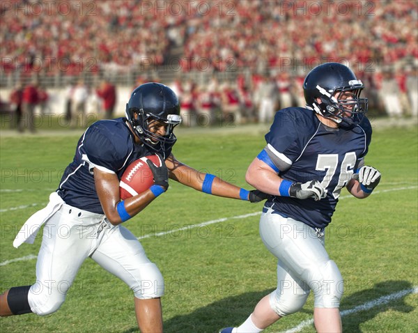
POLYGON ((269 154, 279 176, 293 182, 318 180, 327 191, 325 199, 273 196, 267 207, 281 215, 323 229, 331 222, 341 189, 364 164, 371 141, 371 125, 364 117, 350 130, 332 129, 320 123, 314 111, 302 107, 282 109, 265 135, 269 154), (277 162, 279 161, 279 162, 277 162))

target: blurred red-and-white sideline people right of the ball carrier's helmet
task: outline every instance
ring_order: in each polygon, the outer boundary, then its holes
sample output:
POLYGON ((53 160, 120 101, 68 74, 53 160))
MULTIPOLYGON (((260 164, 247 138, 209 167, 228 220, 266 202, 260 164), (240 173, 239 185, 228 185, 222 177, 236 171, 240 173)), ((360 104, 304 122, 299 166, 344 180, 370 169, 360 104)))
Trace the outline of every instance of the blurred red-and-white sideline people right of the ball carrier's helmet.
MULTIPOLYGON (((369 98, 372 116, 418 116, 417 68, 364 74, 359 77, 366 86, 362 95, 369 98)), ((208 84, 180 78, 167 84, 180 98, 185 126, 270 123, 278 109, 305 106, 304 77, 277 72, 250 79, 238 75, 233 82, 214 76, 208 84)))

